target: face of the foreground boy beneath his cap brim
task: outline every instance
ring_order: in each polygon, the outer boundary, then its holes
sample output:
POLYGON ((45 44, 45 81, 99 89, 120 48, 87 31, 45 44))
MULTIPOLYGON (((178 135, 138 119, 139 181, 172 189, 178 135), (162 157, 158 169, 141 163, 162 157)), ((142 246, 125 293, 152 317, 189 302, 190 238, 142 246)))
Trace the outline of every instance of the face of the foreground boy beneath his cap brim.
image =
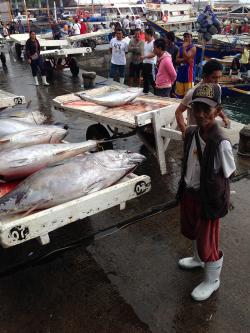
POLYGON ((214 124, 215 118, 218 116, 219 108, 211 107, 205 103, 194 102, 192 103, 192 110, 196 123, 199 127, 205 129, 214 124))

